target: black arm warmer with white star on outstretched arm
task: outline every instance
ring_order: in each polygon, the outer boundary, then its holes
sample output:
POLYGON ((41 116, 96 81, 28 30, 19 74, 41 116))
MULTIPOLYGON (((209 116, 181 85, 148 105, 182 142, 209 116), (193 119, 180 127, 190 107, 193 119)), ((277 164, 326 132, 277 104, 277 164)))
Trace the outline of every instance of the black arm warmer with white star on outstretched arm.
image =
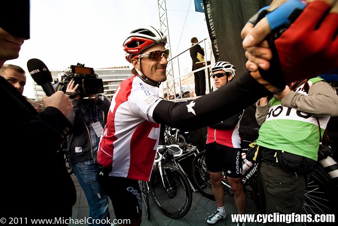
POLYGON ((271 92, 247 71, 233 82, 189 103, 160 101, 153 119, 156 123, 192 131, 229 118, 269 94, 271 92))

